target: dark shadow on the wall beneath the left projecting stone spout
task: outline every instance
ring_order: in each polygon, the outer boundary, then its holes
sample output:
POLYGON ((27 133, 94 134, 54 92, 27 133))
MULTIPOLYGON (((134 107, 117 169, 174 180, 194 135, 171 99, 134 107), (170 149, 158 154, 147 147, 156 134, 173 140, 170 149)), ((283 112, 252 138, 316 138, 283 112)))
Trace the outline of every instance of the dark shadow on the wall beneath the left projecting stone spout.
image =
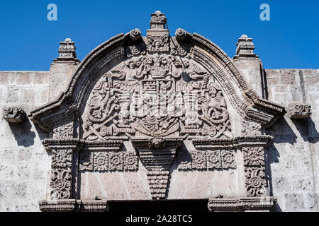
MULTIPOLYGON (((11 132, 13 133, 14 138, 16 139, 18 146, 28 148, 34 145, 36 134, 35 132, 31 131, 32 125, 27 117, 20 124, 9 123, 9 127, 11 129, 11 132)), ((45 131, 40 129, 38 126, 35 126, 35 129, 41 140, 47 138, 47 133, 45 131)))

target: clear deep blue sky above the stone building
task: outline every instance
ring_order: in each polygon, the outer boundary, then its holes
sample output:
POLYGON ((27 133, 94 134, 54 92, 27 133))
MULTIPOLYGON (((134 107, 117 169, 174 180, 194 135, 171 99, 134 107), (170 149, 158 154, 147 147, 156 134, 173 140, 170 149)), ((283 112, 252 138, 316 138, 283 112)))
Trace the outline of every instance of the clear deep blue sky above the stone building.
POLYGON ((173 35, 197 32, 233 57, 240 35, 252 37, 266 69, 318 69, 319 1, 0 1, 0 71, 48 71, 59 42, 71 37, 82 60, 121 32, 150 27, 150 13, 162 11, 173 35), (47 5, 57 5, 57 21, 47 5), (270 21, 259 19, 269 4, 270 21))

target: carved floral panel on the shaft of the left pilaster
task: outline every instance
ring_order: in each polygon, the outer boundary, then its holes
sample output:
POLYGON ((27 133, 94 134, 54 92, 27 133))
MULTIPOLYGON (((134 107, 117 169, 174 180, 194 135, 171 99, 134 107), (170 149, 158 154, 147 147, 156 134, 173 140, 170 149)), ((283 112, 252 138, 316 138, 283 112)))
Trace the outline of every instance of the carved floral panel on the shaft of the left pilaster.
POLYGON ((72 196, 72 153, 72 149, 52 150, 51 199, 68 199, 72 196))

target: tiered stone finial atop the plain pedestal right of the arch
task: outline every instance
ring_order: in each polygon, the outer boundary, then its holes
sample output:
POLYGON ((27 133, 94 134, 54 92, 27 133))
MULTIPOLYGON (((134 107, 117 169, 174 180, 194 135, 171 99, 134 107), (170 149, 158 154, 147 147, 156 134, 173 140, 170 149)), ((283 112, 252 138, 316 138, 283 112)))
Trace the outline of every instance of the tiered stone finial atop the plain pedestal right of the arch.
POLYGON ((252 38, 247 35, 242 35, 238 39, 236 46, 237 49, 234 59, 238 59, 240 57, 258 58, 258 56, 254 54, 254 43, 252 43, 252 38))

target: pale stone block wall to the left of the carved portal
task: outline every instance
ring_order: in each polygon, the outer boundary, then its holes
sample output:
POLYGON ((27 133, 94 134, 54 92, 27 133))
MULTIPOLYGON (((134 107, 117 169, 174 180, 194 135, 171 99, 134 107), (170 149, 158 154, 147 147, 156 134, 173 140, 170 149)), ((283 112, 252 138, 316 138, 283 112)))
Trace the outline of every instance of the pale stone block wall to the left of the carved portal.
POLYGON ((0 211, 40 211, 38 201, 46 196, 50 157, 40 137, 46 134, 28 119, 11 124, 2 109, 30 109, 48 102, 49 72, 0 72, 0 211))

